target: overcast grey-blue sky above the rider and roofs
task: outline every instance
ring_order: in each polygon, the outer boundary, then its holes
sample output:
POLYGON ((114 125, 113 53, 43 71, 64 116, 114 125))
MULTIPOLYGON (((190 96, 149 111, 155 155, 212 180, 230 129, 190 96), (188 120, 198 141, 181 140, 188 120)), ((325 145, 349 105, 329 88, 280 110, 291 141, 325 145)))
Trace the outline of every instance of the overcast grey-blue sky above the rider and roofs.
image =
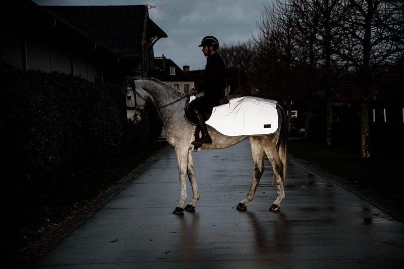
MULTIPOLYGON (((257 32, 263 5, 271 0, 34 0, 50 6, 148 5, 149 17, 168 35, 154 45, 156 57, 163 54, 180 68, 205 69, 200 40, 214 35, 219 44, 237 44, 257 32), (156 8, 151 8, 151 6, 156 8)), ((220 50, 219 50, 220 52, 220 50)))

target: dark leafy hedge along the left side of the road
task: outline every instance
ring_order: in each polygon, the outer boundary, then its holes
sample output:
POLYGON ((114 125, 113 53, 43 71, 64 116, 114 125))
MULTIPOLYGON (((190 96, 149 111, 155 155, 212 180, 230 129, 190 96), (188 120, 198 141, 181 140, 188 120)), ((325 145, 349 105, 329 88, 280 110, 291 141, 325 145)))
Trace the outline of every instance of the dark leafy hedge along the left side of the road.
POLYGON ((43 188, 155 140, 162 123, 148 105, 126 119, 123 85, 0 64, 0 144, 11 188, 43 188))

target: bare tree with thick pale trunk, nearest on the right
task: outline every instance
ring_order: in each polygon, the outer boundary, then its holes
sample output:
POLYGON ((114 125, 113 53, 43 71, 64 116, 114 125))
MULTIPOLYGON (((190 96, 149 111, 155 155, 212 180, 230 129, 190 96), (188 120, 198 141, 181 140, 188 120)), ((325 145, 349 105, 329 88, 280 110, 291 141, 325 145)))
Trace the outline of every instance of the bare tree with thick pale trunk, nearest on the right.
POLYGON ((403 4, 381 0, 346 0, 341 4, 345 16, 339 24, 336 57, 361 89, 361 152, 362 158, 369 158, 372 86, 384 67, 402 58, 403 4))

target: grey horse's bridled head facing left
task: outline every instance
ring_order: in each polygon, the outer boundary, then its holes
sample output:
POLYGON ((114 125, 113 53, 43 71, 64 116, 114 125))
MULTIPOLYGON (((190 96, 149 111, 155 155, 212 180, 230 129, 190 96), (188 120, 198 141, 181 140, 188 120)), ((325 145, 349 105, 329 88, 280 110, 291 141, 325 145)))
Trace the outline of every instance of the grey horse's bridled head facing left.
POLYGON ((140 112, 146 104, 146 95, 143 89, 136 88, 135 78, 127 78, 126 85, 126 116, 128 122, 137 123, 140 118, 140 112))

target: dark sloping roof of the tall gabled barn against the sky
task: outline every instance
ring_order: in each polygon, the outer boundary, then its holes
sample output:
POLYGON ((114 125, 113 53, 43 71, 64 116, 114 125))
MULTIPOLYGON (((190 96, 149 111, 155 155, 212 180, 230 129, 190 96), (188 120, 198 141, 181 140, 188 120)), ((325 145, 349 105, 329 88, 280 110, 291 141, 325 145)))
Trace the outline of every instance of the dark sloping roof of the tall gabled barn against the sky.
POLYGON ((140 55, 145 37, 167 37, 167 34, 149 19, 145 5, 42 7, 121 56, 140 55))

